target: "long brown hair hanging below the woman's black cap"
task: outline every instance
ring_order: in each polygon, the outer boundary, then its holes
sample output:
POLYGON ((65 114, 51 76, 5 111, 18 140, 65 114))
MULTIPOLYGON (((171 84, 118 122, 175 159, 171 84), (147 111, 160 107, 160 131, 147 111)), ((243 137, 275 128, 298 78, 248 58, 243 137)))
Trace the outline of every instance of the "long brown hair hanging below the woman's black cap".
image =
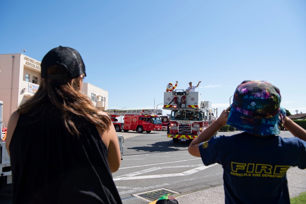
MULTIPOLYGON (((48 68, 48 74, 60 74, 64 73, 65 70, 62 65, 51 65, 48 68)), ((38 113, 46 110, 42 106, 47 102, 61 111, 65 127, 72 135, 79 135, 76 124, 72 119, 73 115, 85 118, 85 120, 99 126, 103 131, 107 131, 111 124, 110 117, 101 114, 89 98, 80 93, 80 78, 81 76, 62 80, 42 78, 38 91, 32 98, 19 106, 17 113, 38 113)))

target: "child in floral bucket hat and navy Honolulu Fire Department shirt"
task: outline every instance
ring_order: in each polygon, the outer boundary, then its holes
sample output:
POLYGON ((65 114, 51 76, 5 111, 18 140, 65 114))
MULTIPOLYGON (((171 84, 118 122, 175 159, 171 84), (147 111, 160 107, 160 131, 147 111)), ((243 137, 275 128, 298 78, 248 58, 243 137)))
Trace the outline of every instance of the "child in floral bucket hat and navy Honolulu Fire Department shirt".
POLYGON ((231 106, 190 143, 189 153, 204 165, 222 165, 225 203, 290 203, 286 171, 306 168, 306 130, 286 116, 280 102, 271 83, 246 80, 231 106), (244 132, 213 137, 226 124, 244 132), (276 136, 281 126, 295 137, 276 136))

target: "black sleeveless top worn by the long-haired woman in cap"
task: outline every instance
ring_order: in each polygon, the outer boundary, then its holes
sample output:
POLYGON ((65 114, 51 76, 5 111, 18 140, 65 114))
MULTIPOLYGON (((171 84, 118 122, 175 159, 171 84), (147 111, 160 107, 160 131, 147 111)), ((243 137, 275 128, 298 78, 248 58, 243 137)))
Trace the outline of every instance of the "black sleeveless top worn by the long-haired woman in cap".
POLYGON ((79 137, 59 110, 20 115, 9 146, 13 203, 121 203, 98 130, 73 121, 79 137))

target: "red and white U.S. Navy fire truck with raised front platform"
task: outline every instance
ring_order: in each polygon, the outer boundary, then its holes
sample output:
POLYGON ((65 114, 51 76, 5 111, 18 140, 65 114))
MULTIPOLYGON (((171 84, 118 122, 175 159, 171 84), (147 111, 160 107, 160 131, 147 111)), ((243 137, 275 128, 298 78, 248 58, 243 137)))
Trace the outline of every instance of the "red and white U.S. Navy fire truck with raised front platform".
POLYGON ((218 109, 211 109, 211 103, 201 101, 200 96, 199 92, 186 90, 164 92, 163 109, 171 110, 167 137, 172 138, 174 143, 191 141, 218 117, 218 109))

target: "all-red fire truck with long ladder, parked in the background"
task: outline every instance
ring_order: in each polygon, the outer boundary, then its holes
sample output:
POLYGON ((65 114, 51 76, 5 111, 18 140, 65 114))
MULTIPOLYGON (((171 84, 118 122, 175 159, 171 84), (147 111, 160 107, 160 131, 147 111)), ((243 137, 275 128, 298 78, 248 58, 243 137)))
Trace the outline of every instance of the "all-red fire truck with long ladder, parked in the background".
POLYGON ((161 109, 137 109, 137 110, 117 110, 110 109, 104 112, 110 114, 112 122, 117 132, 129 130, 150 133, 152 130, 162 130, 162 121, 159 115, 161 109), (116 117, 124 116, 123 122, 115 120, 116 117))

